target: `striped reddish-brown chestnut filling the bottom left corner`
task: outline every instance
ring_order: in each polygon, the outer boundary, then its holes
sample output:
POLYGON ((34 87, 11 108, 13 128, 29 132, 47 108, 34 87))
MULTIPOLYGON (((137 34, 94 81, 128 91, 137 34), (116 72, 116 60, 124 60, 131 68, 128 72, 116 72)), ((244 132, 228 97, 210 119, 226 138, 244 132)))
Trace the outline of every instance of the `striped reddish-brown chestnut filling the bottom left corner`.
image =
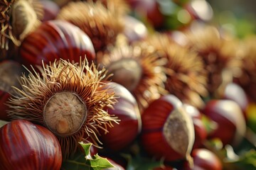
POLYGON ((0 129, 0 169, 58 170, 60 144, 50 130, 27 120, 14 120, 0 129))

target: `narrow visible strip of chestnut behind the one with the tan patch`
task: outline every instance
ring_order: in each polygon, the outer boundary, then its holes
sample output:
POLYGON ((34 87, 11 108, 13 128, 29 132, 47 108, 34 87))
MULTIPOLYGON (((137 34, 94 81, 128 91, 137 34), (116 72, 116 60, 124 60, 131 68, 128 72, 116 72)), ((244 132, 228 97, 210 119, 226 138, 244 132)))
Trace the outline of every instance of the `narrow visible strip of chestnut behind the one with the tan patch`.
POLYGON ((204 140, 207 137, 207 130, 205 125, 203 124, 203 116, 200 111, 195 106, 191 106, 190 104, 183 104, 183 108, 185 109, 188 115, 191 115, 193 120, 193 126, 195 130, 195 142, 193 148, 201 147, 204 140))

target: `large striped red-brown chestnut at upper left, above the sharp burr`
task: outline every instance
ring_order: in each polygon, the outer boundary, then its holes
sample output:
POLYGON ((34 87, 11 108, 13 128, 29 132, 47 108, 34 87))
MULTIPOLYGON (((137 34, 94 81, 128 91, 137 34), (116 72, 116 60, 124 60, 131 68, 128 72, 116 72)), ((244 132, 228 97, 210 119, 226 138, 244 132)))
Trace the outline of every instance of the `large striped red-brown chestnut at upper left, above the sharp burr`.
POLYGON ((21 63, 28 69, 54 62, 62 58, 80 62, 80 57, 88 62, 95 59, 95 50, 90 38, 77 26, 66 21, 46 21, 29 34, 19 49, 21 63))

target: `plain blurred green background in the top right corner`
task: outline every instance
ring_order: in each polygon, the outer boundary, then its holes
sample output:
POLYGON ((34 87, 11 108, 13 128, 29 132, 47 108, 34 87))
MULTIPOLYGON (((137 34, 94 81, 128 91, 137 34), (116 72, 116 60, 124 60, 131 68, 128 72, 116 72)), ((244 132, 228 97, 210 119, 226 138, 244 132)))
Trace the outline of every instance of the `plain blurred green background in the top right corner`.
POLYGON ((208 0, 214 11, 213 21, 233 30, 239 37, 255 33, 255 0, 208 0))

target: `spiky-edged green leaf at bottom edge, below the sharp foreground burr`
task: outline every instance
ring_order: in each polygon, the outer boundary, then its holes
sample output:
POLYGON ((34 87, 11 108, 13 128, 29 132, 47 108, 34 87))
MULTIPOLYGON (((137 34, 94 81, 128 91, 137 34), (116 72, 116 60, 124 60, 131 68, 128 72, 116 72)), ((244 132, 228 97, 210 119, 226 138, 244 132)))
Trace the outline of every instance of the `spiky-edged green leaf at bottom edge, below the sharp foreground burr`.
POLYGON ((84 149, 85 154, 77 153, 73 158, 65 160, 62 165, 63 170, 101 170, 114 167, 107 158, 102 158, 98 154, 91 156, 92 143, 79 142, 79 144, 84 149))

